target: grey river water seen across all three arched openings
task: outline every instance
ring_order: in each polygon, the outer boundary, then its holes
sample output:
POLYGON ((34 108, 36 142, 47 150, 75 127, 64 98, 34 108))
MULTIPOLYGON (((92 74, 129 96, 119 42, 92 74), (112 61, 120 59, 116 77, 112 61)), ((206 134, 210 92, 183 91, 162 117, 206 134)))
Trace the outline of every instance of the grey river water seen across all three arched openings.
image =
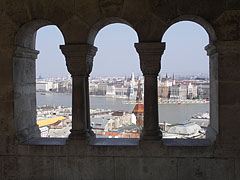
MULTIPOLYGON (((72 106, 71 94, 37 93, 37 105, 72 106)), ((126 99, 90 97, 91 109, 111 109, 132 112, 134 104, 125 104, 126 99)), ((209 112, 209 104, 159 104, 159 120, 170 124, 189 120, 196 113, 209 112)))

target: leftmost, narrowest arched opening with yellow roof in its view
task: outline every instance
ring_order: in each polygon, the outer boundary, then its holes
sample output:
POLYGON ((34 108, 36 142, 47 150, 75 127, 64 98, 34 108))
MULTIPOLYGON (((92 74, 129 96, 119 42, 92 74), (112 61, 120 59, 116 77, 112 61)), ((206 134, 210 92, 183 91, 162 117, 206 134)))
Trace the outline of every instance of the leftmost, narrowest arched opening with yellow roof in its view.
POLYGON ((56 26, 37 31, 37 124, 41 137, 68 137, 72 128, 72 79, 59 49, 63 44, 64 38, 56 26))

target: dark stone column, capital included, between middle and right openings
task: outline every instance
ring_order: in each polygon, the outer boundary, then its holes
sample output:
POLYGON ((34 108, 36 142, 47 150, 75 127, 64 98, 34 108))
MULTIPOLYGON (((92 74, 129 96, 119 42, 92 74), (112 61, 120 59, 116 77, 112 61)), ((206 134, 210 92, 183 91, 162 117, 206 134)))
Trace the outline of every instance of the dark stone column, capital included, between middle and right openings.
POLYGON ((144 127, 143 140, 162 138, 158 120, 157 76, 161 69, 161 57, 165 43, 136 43, 140 57, 140 67, 144 76, 144 127))

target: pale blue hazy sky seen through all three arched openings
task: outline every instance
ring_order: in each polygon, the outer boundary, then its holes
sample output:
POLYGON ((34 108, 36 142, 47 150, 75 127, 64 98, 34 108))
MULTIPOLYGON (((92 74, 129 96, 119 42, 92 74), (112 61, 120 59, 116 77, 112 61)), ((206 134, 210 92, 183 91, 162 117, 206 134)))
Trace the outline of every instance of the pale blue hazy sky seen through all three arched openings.
MULTIPOLYGON (((198 24, 180 22, 171 26, 164 34, 167 48, 162 57, 160 74, 208 73, 208 57, 204 47, 208 34, 198 24)), ((104 27, 95 39, 98 47, 91 76, 130 76, 140 71, 139 57, 134 48, 138 42, 136 32, 124 24, 104 27)), ((68 75, 65 58, 59 49, 64 39, 56 26, 47 26, 37 32, 36 49, 40 50, 37 60, 37 76, 57 77, 68 75)))

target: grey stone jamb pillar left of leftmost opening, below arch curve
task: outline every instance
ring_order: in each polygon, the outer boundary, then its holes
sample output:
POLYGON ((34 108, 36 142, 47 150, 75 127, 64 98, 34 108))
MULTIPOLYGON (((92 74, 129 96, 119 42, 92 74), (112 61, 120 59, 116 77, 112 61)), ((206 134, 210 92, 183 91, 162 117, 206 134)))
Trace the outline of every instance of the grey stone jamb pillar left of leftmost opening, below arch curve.
POLYGON ((36 119, 36 68, 39 51, 16 47, 13 57, 14 123, 20 142, 40 137, 36 119))

